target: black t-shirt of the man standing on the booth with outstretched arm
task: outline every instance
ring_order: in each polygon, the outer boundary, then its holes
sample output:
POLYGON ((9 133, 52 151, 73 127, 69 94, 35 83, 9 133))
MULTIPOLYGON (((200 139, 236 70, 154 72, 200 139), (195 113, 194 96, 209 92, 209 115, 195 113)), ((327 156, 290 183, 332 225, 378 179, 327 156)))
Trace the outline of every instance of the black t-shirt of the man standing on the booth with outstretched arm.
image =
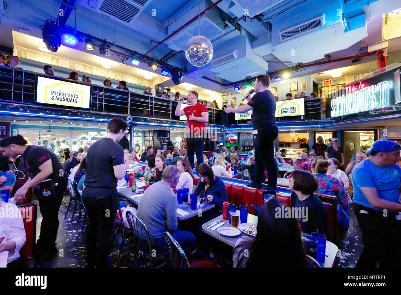
POLYGON ((275 128, 275 98, 269 90, 257 92, 248 105, 253 108, 251 122, 253 129, 275 128))

